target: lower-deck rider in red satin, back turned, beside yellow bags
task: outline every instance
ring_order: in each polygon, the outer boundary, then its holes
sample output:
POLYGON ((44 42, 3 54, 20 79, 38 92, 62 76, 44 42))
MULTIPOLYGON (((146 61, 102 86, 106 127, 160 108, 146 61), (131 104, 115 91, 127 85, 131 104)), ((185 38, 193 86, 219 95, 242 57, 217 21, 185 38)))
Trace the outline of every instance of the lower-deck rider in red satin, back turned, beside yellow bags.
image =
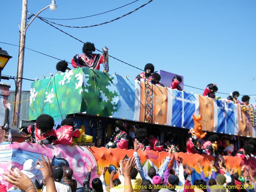
POLYGON ((74 127, 74 122, 71 119, 64 119, 56 128, 58 140, 53 141, 54 144, 61 144, 64 146, 72 146, 72 138, 79 138, 81 132, 74 127))

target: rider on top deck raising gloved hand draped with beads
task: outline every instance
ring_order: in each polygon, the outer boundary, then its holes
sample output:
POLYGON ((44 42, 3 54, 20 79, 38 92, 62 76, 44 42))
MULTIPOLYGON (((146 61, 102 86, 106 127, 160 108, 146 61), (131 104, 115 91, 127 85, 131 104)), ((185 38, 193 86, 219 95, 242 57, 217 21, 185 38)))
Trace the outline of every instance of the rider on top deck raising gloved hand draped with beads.
POLYGON ((84 54, 74 56, 71 60, 71 64, 74 68, 87 67, 90 69, 100 70, 100 64, 103 63, 103 72, 108 72, 108 48, 105 46, 102 50, 103 54, 92 53, 95 51, 94 44, 86 42, 82 49, 84 54))

